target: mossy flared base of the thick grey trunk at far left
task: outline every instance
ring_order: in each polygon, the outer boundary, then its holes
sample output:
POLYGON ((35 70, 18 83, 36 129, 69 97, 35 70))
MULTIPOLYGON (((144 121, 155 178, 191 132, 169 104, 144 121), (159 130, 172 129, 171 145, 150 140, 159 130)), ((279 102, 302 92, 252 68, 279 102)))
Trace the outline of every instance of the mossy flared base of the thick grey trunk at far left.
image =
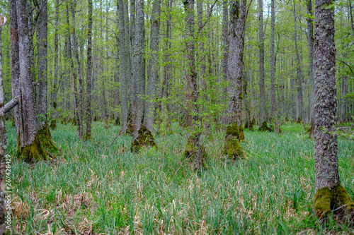
POLYGON ((20 140, 18 139, 18 145, 16 150, 16 157, 25 162, 38 162, 47 160, 47 152, 45 152, 42 144, 40 143, 40 134, 35 135, 35 140, 30 145, 21 147, 20 140))

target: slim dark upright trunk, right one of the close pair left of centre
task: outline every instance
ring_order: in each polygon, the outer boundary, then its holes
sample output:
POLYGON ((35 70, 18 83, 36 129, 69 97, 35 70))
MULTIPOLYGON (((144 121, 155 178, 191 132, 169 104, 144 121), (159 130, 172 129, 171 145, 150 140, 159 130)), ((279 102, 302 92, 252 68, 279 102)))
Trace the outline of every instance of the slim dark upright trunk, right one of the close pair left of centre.
POLYGON ((92 0, 88 1, 89 4, 89 32, 87 32, 87 78, 86 78, 86 134, 85 139, 91 139, 91 73, 92 73, 92 0))

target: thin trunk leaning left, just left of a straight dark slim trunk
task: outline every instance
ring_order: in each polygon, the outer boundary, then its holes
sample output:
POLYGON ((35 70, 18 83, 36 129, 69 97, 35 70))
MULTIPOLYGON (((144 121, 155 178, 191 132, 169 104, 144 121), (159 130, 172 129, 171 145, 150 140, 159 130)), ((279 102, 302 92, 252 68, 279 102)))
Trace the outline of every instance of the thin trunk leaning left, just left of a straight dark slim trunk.
MULTIPOLYGON (((76 28, 75 28, 75 8, 76 8, 76 3, 72 2, 72 44, 73 44, 73 54, 76 58, 76 63, 77 63, 77 78, 79 80, 79 104, 76 104, 77 107, 77 116, 79 121, 77 124, 77 131, 79 138, 84 138, 84 128, 83 128, 83 117, 82 117, 82 103, 83 103, 83 81, 81 78, 81 61, 79 59, 79 52, 77 49, 77 40, 76 40, 76 28)), ((75 83, 75 80, 73 80, 73 83, 75 83)), ((75 85, 74 85, 75 86, 75 85)), ((75 89, 76 90, 76 89, 75 89)))

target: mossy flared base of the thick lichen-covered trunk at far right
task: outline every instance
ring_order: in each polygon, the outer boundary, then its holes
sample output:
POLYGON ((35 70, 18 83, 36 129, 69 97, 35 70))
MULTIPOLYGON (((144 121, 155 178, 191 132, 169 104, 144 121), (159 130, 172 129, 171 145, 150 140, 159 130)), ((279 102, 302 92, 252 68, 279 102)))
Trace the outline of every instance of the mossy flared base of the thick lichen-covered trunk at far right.
POLYGON ((333 188, 320 188, 314 195, 314 211, 319 219, 331 215, 342 219, 346 215, 354 217, 354 203, 349 197, 346 188, 339 183, 333 188))

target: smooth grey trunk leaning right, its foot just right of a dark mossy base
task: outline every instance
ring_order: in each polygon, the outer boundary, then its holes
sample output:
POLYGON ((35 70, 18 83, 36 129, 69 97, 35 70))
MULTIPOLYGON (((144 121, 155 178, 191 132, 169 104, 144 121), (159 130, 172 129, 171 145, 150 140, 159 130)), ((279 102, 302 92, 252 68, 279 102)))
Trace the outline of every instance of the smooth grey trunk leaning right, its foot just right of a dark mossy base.
MULTIPOLYGON (((155 97, 155 86, 159 81, 159 65, 157 64, 159 53, 159 35, 160 35, 160 15, 161 0, 155 0, 152 8, 152 28, 150 32, 150 52, 148 77, 147 77, 147 97, 149 100, 155 97)), ((144 125, 153 134, 154 128, 154 102, 146 102, 144 112, 144 125)))

